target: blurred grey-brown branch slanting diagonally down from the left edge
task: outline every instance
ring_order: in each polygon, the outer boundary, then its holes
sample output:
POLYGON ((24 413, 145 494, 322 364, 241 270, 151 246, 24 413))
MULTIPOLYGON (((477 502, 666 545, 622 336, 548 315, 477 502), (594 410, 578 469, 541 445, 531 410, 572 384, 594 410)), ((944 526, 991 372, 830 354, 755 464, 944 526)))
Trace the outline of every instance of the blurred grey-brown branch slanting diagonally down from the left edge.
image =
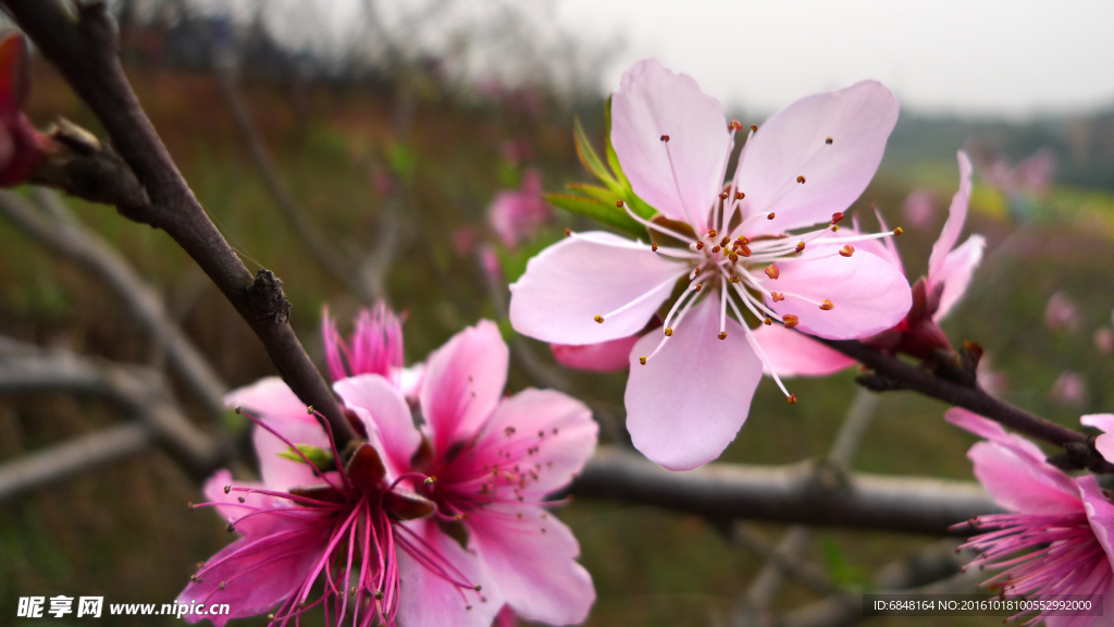
POLYGON ((57 193, 38 187, 36 197, 53 218, 48 222, 12 192, 0 191, 0 213, 25 233, 78 268, 99 277, 124 301, 131 317, 165 348, 170 364, 213 415, 224 412, 227 387, 196 346, 167 316, 158 293, 99 234, 81 225, 57 193))

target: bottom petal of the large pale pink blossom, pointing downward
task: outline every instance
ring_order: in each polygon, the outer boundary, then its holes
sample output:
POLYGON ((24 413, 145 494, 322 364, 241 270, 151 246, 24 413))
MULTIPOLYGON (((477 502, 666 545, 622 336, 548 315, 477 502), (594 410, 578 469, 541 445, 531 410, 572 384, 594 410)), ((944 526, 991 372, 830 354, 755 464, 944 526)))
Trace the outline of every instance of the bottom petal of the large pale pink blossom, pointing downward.
POLYGON ((719 339, 717 299, 705 298, 675 328, 662 350, 651 332, 631 351, 627 430, 636 448, 670 470, 691 470, 720 456, 746 419, 762 360, 743 329, 729 321, 719 339))

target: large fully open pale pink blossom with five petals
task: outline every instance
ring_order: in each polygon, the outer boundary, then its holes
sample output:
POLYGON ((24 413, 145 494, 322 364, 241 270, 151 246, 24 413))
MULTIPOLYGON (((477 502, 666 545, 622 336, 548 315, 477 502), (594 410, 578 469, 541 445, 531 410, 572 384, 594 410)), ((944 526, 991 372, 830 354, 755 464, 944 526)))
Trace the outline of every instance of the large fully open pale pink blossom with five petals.
POLYGON ((631 351, 627 428, 665 467, 714 460, 762 377, 743 311, 843 339, 890 328, 909 310, 901 272, 853 250, 879 235, 836 234, 833 224, 873 176, 897 115, 874 81, 799 100, 749 136, 724 186, 742 126, 729 125, 691 77, 635 64, 612 98, 610 138, 634 192, 661 215, 627 212, 659 243, 595 231, 549 247, 511 286, 511 324, 564 345, 628 338, 680 282, 662 329, 631 351))

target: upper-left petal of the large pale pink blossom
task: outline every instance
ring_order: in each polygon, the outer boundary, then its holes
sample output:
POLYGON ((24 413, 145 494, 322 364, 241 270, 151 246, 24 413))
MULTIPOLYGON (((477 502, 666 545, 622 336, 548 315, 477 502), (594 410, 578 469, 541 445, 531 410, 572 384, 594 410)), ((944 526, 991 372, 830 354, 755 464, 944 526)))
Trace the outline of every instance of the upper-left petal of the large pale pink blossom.
POLYGON ((697 230, 723 186, 729 143, 720 100, 657 59, 632 66, 612 96, 612 144, 634 192, 673 220, 688 222, 687 208, 697 230))

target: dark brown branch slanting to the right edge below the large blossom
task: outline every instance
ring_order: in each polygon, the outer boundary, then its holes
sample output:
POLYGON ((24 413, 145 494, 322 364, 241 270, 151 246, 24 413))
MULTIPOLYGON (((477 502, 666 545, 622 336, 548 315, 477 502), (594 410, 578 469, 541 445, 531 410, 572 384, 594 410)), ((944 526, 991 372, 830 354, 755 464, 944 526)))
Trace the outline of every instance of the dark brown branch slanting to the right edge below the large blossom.
POLYGON ((928 370, 886 355, 861 341, 814 339, 858 360, 883 377, 899 383, 901 389, 911 389, 957 407, 970 409, 1017 432, 1049 444, 1063 446, 1069 454, 1084 457, 1077 460, 1081 465, 1096 472, 1114 472, 1114 465, 1106 463, 1097 452, 1094 452, 1085 434, 1034 416, 1025 409, 990 396, 978 386, 968 387, 935 376, 928 370))

